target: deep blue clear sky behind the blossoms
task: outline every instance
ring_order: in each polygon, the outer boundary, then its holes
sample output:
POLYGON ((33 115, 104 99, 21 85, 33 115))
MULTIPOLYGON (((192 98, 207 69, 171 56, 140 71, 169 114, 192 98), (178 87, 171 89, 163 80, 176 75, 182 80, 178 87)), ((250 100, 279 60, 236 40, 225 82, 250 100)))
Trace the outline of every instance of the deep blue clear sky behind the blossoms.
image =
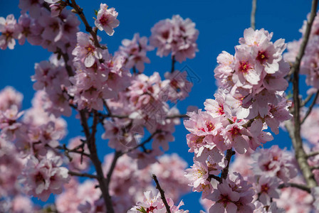
MULTIPOLYGON (((162 0, 162 1, 85 1, 78 0, 78 4, 83 7, 90 25, 93 25, 94 10, 99 9, 100 3, 115 7, 118 11, 120 26, 115 28, 115 34, 110 37, 105 33, 99 33, 102 43, 106 43, 111 53, 117 50, 124 38, 131 39, 134 33, 150 36, 150 28, 155 23, 164 19, 172 18, 172 15, 179 14, 182 18, 191 18, 196 23, 199 30, 198 48, 199 52, 193 60, 187 60, 182 64, 177 62, 176 68, 180 69, 187 65, 198 77, 199 81, 194 82, 194 87, 189 97, 177 104, 181 113, 185 113, 189 105, 204 108, 203 103, 207 98, 213 98, 216 85, 214 82, 214 67, 216 67, 216 57, 222 50, 234 54, 234 46, 238 44, 245 28, 250 26, 251 1, 211 1, 211 0, 162 0)), ((14 13, 19 17, 18 0, 0 0, 0 16, 6 17, 14 13)), ((300 38, 299 28, 303 24, 307 13, 310 11, 311 2, 306 0, 290 1, 258 1, 256 12, 256 28, 265 28, 273 32, 273 41, 278 38, 285 38, 286 42, 300 38)), ((83 30, 83 25, 81 25, 83 30)), ((24 95, 23 109, 31 106, 33 97, 32 82, 30 76, 34 74, 34 63, 47 60, 50 53, 38 46, 16 45, 14 50, 0 51, 0 89, 6 85, 15 87, 24 95)), ((155 51, 149 55, 150 65, 146 65, 145 74, 152 72, 164 72, 170 70, 170 58, 158 58, 155 51)), ((304 78, 302 78, 304 79, 304 78)), ((305 89, 303 89, 303 92, 305 89)), ((73 113, 74 115, 74 113, 73 113)), ((68 138, 80 134, 79 122, 73 118, 67 119, 68 138)), ((101 131, 100 131, 101 133, 101 131)), ((186 144, 187 131, 183 125, 177 126, 174 136, 176 141, 170 143, 168 153, 178 153, 189 165, 192 165, 192 153, 188 153, 186 144)), ((100 138, 98 136, 98 138, 100 138)), ((273 144, 291 147, 288 134, 281 131, 275 136, 274 141, 266 144, 269 147, 273 144)), ((105 151, 105 141, 98 141, 100 155, 105 151)), ((185 203, 184 209, 190 212, 199 212, 202 209, 199 205, 200 194, 197 192, 182 197, 185 203)))

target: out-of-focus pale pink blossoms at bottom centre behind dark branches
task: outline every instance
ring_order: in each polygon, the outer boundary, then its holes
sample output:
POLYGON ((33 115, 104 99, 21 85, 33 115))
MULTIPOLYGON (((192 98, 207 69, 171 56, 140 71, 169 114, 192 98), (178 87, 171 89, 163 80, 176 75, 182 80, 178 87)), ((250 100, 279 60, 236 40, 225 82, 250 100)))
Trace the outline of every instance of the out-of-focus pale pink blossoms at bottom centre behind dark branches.
MULTIPOLYGON (((113 155, 105 156, 105 173, 108 173, 112 160, 113 155)), ((177 155, 164 155, 158 160, 158 163, 138 170, 137 160, 128 155, 118 159, 110 181, 110 195, 115 212, 127 212, 136 202, 143 200, 144 191, 156 191, 150 178, 152 173, 157 174, 162 187, 165 187, 165 195, 170 197, 168 201, 172 210, 177 211, 178 207, 173 207, 173 202, 188 191, 187 180, 183 177, 187 165, 177 155)), ((72 178, 66 185, 66 190, 56 199, 58 212, 105 212, 101 192, 95 185, 98 185, 96 180, 80 183, 72 178)))

